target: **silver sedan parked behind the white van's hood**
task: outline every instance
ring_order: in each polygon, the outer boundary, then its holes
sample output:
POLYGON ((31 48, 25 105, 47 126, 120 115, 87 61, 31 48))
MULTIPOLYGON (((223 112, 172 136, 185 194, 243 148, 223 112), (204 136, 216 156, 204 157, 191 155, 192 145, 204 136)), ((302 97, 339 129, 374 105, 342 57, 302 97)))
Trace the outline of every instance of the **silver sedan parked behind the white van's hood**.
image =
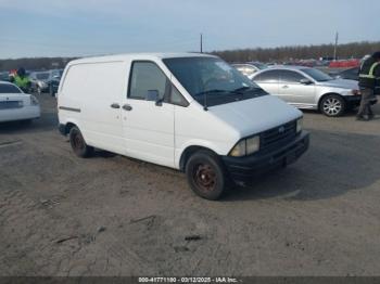
MULTIPOLYGON (((360 103, 357 81, 333 79, 315 68, 274 66, 254 74, 252 80, 289 104, 319 109, 327 116, 340 116, 360 103)), ((376 104, 377 100, 371 103, 376 104)))

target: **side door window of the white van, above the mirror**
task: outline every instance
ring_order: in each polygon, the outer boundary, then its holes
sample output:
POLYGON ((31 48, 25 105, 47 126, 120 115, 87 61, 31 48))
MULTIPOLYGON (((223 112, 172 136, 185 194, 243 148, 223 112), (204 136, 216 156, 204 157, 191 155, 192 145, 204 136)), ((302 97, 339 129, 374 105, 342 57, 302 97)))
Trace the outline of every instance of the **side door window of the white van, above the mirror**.
POLYGON ((159 98, 164 99, 168 80, 165 74, 152 62, 135 62, 129 82, 130 99, 145 100, 149 91, 159 91, 159 98))

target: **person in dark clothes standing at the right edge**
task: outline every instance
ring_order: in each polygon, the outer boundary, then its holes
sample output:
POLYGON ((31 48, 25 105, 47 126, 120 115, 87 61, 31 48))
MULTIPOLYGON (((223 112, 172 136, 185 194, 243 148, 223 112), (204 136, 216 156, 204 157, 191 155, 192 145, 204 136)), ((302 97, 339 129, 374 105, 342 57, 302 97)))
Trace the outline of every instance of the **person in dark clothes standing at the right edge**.
POLYGON ((380 51, 366 59, 359 69, 359 88, 362 101, 356 115, 357 120, 369 120, 375 117, 370 101, 375 98, 375 88, 380 78, 380 51), (367 116, 367 117, 365 117, 367 116))

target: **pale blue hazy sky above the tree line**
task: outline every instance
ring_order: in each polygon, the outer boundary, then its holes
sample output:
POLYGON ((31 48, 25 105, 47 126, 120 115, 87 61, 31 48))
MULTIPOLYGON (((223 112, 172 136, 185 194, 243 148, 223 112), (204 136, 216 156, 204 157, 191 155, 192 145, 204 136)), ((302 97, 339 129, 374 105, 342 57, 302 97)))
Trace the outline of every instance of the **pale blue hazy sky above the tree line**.
POLYGON ((0 0, 0 59, 380 40, 379 0, 0 0))

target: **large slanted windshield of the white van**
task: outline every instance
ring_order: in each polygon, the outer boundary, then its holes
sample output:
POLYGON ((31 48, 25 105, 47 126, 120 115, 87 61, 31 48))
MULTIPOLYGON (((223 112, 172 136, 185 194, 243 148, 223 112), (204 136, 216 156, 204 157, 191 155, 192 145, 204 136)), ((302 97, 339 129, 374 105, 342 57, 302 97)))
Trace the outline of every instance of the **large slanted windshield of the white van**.
POLYGON ((191 96, 202 105, 214 106, 267 94, 240 72, 216 57, 176 57, 163 61, 191 96))

